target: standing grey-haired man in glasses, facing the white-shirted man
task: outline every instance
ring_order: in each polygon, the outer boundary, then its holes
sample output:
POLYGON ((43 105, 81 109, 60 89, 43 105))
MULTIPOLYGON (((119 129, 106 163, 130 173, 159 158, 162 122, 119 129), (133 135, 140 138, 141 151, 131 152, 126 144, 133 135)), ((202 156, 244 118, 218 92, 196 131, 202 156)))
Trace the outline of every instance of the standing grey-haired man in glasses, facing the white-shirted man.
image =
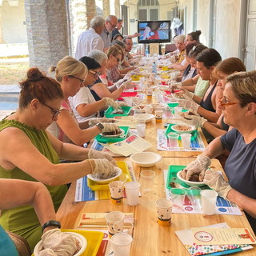
POLYGON ((112 39, 112 31, 118 25, 118 18, 114 15, 109 15, 106 17, 105 28, 102 30, 100 34, 103 42, 104 42, 104 52, 110 48, 111 39, 112 39))

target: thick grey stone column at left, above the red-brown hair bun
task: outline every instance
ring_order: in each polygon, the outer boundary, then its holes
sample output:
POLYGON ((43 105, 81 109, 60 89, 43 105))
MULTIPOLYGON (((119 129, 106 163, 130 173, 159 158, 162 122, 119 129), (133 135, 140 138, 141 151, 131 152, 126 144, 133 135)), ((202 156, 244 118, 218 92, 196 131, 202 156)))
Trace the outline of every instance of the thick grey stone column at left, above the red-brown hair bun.
POLYGON ((48 70, 69 54, 65 0, 25 0, 30 66, 48 70))

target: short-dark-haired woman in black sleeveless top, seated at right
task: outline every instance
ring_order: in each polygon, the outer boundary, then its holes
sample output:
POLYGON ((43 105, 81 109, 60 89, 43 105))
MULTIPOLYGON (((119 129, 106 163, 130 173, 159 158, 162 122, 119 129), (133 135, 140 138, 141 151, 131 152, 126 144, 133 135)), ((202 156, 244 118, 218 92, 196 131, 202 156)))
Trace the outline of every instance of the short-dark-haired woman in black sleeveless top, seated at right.
POLYGON ((198 74, 202 80, 210 82, 209 88, 203 98, 191 93, 186 93, 189 99, 180 100, 180 105, 186 110, 200 114, 210 122, 217 122, 221 114, 218 106, 218 97, 222 95, 220 88, 217 87, 218 78, 214 76, 214 68, 222 60, 217 50, 212 48, 202 50, 197 58, 198 74))

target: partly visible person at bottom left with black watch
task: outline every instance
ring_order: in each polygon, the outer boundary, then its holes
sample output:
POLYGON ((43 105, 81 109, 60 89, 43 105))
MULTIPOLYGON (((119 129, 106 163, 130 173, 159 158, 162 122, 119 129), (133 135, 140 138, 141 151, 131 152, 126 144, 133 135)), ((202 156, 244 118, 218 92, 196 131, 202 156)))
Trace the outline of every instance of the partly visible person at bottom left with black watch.
MULTIPOLYGON (((50 193, 41 182, 28 182, 20 179, 0 178, 0 210, 7 210, 18 206, 34 206, 34 210, 38 216, 38 220, 42 226, 42 246, 43 251, 58 254, 58 252, 66 251, 67 246, 69 251, 67 255, 73 255, 77 248, 76 241, 70 234, 62 233, 60 230, 61 223, 57 221, 54 210, 54 204, 50 197, 50 193), (58 238, 58 239, 56 239, 58 238)), ((1 226, 0 226, 1 229, 1 226)), ((8 232, 10 234, 10 232, 8 232)), ((9 239, 6 234, 6 238, 9 239)), ((12 234, 10 234, 12 238, 12 234)), ((5 239, 2 237, 1 240, 5 239)), ((9 240, 10 241, 10 240, 9 240)), ((6 241, 5 241, 6 242, 6 241)), ((0 246, 0 254, 6 255, 31 255, 30 248, 20 246, 17 238, 13 243, 7 242, 6 246, 0 246), (9 245, 9 246, 8 246, 9 245), (8 246, 8 247, 7 247, 8 246)))

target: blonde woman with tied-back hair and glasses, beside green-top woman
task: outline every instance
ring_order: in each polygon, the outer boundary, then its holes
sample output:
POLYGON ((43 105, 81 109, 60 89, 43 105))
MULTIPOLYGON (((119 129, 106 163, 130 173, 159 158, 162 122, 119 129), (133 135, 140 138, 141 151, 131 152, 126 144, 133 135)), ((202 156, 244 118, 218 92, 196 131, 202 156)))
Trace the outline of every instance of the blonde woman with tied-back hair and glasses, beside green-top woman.
MULTIPOLYGON (((93 83, 98 77, 98 65, 97 63, 95 65, 96 67, 94 69, 87 70, 82 62, 67 56, 60 60, 56 67, 50 67, 50 71, 55 72, 55 78, 62 87, 64 98, 62 100, 61 113, 58 115, 58 120, 54 120, 47 130, 62 142, 73 142, 74 144, 82 146, 102 132, 98 126, 95 126, 96 123, 93 121, 91 121, 93 123, 90 123, 90 120, 79 123, 78 125, 79 119, 75 117, 69 100, 69 98, 75 96, 86 83, 93 83), (88 128, 89 126, 92 127, 88 128)), ((106 107, 105 102, 99 103, 98 105, 99 106, 94 106, 94 110, 97 109, 97 107, 98 110, 106 107)), ((111 122, 111 120, 106 118, 96 119, 96 121, 98 123, 111 122)), ((114 124, 107 123, 105 125, 102 124, 102 126, 104 126, 104 130, 118 130, 118 126, 114 124)))

